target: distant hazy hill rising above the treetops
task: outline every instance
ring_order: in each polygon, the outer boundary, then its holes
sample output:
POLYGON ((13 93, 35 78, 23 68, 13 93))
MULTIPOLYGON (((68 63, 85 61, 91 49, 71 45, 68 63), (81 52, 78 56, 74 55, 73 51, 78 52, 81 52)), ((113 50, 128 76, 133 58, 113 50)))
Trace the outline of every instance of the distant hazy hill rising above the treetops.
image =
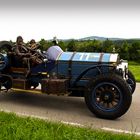
POLYGON ((116 41, 116 40, 124 40, 123 38, 107 38, 107 37, 99 37, 99 36, 90 36, 90 37, 84 37, 80 38, 79 40, 101 40, 105 41, 106 39, 116 41))

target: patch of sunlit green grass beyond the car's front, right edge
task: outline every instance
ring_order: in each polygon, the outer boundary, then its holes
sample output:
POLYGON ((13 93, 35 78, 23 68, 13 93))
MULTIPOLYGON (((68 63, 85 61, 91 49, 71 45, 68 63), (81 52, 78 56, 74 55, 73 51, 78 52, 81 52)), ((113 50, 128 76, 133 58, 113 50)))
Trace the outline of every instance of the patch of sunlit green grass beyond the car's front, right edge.
POLYGON ((140 63, 130 61, 129 70, 134 74, 136 81, 140 82, 140 63))

